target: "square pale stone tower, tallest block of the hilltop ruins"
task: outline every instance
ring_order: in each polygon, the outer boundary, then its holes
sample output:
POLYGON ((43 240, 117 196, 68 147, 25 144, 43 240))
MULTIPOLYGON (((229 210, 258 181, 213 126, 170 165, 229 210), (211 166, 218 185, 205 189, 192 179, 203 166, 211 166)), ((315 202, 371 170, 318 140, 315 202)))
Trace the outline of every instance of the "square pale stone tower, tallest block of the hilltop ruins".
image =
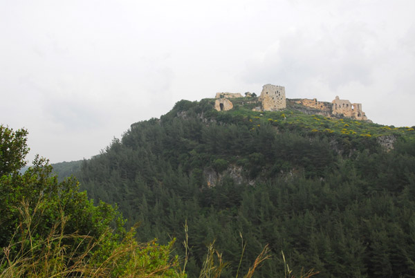
POLYGON ((266 84, 262 87, 258 100, 262 102, 262 110, 277 111, 286 108, 285 88, 266 84))

